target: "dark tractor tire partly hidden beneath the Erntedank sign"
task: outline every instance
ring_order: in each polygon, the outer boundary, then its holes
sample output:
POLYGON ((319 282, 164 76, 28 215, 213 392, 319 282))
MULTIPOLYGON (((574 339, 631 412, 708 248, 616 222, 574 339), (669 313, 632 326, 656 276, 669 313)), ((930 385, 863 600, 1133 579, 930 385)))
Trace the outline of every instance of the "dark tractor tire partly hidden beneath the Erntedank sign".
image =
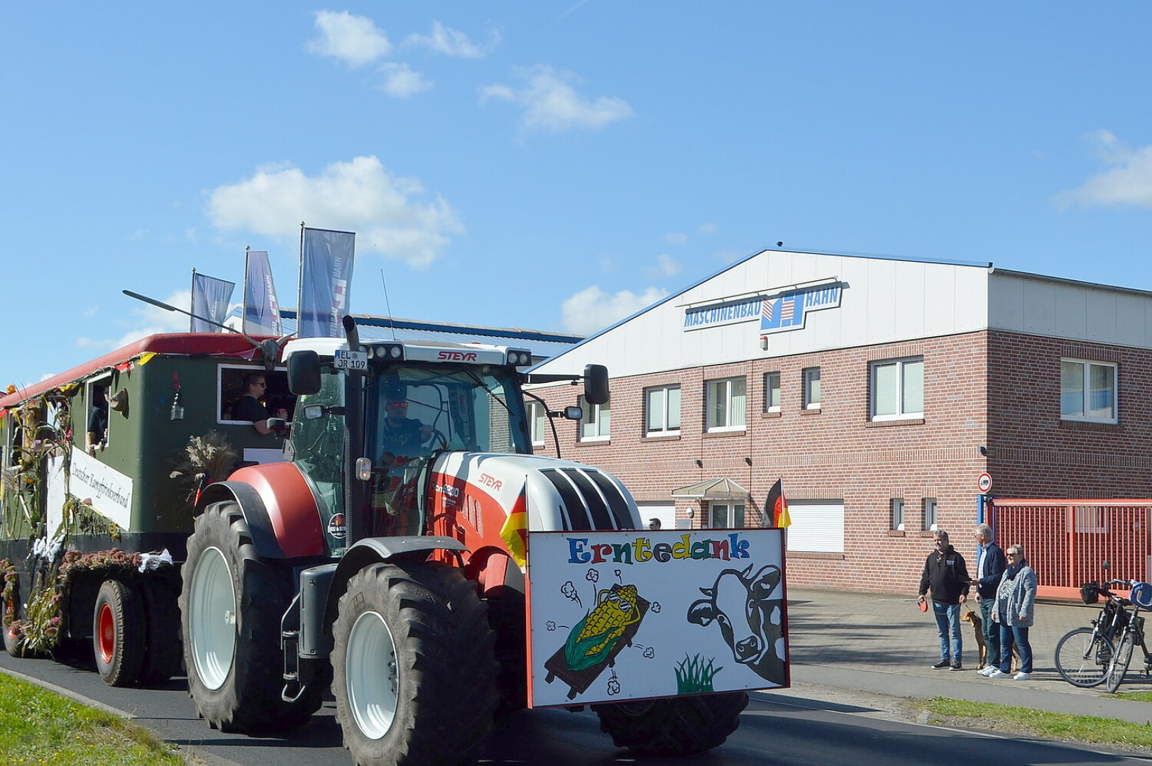
POLYGON ((641 756, 688 756, 723 743, 740 726, 748 693, 727 691, 594 705, 600 729, 641 756))

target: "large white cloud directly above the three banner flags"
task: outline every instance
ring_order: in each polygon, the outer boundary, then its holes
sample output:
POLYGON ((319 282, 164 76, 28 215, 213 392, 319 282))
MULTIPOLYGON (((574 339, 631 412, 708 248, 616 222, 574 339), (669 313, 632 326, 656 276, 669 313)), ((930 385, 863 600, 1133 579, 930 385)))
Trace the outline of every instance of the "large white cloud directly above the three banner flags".
POLYGON ((416 179, 394 176, 376 157, 333 162, 309 177, 290 165, 257 168, 250 179, 209 195, 207 214, 220 229, 298 237, 297 221, 356 232, 357 252, 376 251, 410 266, 431 264, 464 227, 439 195, 422 202, 416 179))

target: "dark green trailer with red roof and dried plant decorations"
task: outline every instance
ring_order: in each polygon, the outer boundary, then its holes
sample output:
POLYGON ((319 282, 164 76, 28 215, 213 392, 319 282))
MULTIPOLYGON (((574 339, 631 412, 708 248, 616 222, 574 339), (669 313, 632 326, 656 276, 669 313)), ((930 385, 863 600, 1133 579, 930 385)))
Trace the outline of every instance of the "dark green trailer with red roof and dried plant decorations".
POLYGON ((180 566, 198 488, 282 460, 233 419, 245 376, 290 410, 283 371, 240 335, 152 335, 0 395, 3 640, 91 651, 114 685, 180 673, 180 566))

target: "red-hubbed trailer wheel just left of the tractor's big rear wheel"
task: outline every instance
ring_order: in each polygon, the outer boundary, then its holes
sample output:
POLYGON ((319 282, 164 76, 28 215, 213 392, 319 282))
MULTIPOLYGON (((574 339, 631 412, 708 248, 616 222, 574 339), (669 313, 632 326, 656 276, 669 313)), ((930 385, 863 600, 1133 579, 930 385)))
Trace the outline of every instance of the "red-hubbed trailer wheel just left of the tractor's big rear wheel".
POLYGON ((130 687, 144 663, 144 605, 138 591, 106 579, 92 610, 92 655, 109 687, 130 687))

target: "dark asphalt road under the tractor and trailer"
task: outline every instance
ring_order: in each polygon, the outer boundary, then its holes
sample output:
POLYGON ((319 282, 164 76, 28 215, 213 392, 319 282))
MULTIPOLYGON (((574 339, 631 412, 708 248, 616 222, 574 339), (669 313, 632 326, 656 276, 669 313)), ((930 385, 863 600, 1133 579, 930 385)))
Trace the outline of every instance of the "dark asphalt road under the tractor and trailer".
MULTIPOLYGON (((113 689, 90 668, 51 660, 15 659, 0 652, 0 669, 52 684, 84 701, 127 712, 134 720, 180 745, 209 766, 348 766, 333 703, 313 720, 285 737, 247 737, 222 734, 197 719, 183 678, 157 689, 113 689)), ((645 759, 646 766, 698 764, 801 765, 873 764, 901 766, 947 760, 1007 764, 1147 764, 1146 759, 1108 754, 1061 744, 1003 740, 918 726, 884 718, 866 703, 846 703, 842 692, 805 684, 801 690, 756 693, 741 727, 723 746, 692 759, 645 759)), ((2 760, 3 753, 0 753, 2 760)), ((484 764, 620 764, 631 763, 599 730, 593 713, 525 711, 503 721, 485 752, 484 764)), ((81 765, 76 765, 81 766, 81 765)))

